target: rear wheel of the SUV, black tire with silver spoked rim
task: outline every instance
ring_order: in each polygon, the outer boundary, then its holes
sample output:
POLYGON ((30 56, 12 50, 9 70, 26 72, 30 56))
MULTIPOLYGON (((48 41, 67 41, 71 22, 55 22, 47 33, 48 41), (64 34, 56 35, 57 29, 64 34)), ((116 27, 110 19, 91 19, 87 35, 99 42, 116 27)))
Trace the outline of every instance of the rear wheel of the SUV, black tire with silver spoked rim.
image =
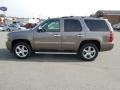
POLYGON ((84 61, 93 61, 98 56, 98 48, 93 43, 86 43, 79 49, 78 56, 84 61))

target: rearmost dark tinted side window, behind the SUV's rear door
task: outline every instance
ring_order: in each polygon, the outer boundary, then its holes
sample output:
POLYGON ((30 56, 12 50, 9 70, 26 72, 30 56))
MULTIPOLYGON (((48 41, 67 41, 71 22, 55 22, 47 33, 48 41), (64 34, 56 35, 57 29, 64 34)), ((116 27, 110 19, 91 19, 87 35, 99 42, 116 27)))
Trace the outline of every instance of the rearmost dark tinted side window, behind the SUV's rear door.
POLYGON ((109 27, 105 20, 85 20, 90 31, 108 31, 109 27))

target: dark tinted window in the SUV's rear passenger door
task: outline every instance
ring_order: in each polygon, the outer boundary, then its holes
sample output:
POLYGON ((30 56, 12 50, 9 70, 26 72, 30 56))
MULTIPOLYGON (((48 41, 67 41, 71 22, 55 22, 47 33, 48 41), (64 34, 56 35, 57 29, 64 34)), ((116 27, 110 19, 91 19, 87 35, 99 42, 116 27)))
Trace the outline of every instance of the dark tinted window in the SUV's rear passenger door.
POLYGON ((81 30, 82 30, 82 27, 78 20, 73 20, 73 19, 64 20, 65 32, 79 32, 81 30))

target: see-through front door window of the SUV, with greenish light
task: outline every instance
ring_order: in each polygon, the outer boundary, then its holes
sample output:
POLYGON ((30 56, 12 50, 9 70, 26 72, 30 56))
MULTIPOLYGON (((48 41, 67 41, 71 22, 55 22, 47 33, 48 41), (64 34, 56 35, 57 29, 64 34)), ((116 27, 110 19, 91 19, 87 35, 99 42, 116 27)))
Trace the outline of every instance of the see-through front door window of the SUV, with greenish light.
POLYGON ((48 20, 43 25, 42 28, 46 32, 59 32, 60 31, 60 21, 59 20, 48 20))

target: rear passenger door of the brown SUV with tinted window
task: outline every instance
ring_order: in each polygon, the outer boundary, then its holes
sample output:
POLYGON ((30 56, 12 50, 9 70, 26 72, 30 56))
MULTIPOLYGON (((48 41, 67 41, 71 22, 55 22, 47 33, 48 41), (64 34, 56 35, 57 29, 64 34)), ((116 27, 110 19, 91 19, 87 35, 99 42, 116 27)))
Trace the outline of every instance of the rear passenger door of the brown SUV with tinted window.
POLYGON ((78 50, 79 44, 84 38, 84 30, 80 20, 64 19, 63 24, 62 49, 78 50))

